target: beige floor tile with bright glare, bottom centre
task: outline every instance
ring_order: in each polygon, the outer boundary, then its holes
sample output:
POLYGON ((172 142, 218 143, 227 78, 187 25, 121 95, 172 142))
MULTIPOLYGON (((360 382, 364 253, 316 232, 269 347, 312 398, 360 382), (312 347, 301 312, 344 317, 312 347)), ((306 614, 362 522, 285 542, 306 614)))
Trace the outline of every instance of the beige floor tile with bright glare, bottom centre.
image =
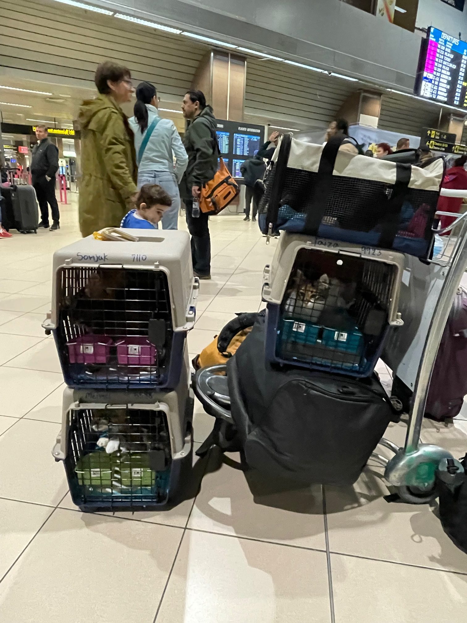
POLYGON ((330 623, 326 554, 187 531, 157 622, 201 621, 330 623))

